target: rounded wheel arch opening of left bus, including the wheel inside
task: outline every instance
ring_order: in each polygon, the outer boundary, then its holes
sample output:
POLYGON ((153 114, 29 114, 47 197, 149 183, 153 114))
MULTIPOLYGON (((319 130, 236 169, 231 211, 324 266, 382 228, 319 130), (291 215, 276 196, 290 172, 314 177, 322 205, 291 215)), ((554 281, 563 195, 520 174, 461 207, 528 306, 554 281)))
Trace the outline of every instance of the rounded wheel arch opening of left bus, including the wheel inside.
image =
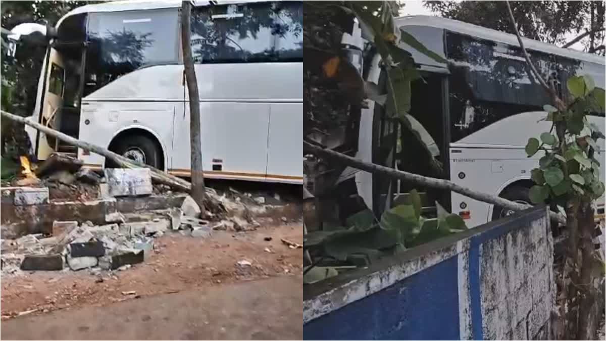
MULTIPOLYGON (((164 147, 159 138, 147 129, 130 127, 121 130, 112 138, 108 149, 133 160, 144 161, 160 170, 165 169, 164 147)), ((105 161, 105 167, 111 165, 111 161, 105 161)))

